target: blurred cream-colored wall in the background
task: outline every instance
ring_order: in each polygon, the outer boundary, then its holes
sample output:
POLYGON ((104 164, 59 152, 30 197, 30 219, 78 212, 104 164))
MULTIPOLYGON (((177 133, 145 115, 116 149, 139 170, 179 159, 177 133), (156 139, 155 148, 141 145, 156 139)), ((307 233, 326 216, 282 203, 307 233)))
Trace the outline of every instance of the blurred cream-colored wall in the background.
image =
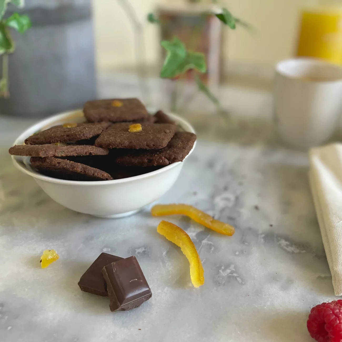
MULTIPOLYGON (((94 0, 97 64, 100 70, 134 65, 133 31, 119 1, 129 1, 144 23, 147 61, 158 60, 158 28, 146 23, 156 0, 94 0)), ((161 0, 162 1, 162 0, 161 0)), ((179 1, 179 0, 168 0, 179 1)), ((226 61, 272 66, 294 50, 301 0, 226 0, 228 8, 251 23, 257 33, 244 29, 226 35, 226 61)))

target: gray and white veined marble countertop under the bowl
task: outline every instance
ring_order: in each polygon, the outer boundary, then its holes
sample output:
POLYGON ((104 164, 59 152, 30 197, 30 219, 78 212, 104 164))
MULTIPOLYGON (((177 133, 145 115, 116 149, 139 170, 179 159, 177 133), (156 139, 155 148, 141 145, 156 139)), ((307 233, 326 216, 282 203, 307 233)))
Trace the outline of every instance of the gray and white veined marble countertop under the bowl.
MULTIPOLYGON (((239 94, 245 105, 249 93, 239 94)), ((269 94, 253 96, 258 110, 268 108, 269 94)), ((308 312, 334 295, 306 153, 282 147, 267 118, 190 120, 198 145, 160 202, 193 204, 236 228, 226 237, 168 218, 199 251, 205 285, 198 289, 187 259, 157 233, 160 218, 148 208, 98 219, 47 197, 7 154, 35 120, 0 118, 1 342, 313 341, 308 312), (41 269, 42 251, 52 248, 60 260, 41 269), (101 252, 135 255, 152 299, 111 313, 107 298, 81 292, 77 282, 101 252)))

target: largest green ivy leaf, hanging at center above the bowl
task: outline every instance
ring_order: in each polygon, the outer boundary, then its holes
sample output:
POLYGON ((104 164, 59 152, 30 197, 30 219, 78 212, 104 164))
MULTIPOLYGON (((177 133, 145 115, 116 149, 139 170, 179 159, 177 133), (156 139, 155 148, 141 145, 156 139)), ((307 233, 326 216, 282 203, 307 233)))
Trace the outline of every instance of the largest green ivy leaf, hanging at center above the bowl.
POLYGON ((179 38, 174 37, 171 41, 163 40, 160 44, 167 51, 160 77, 174 78, 190 69, 198 70, 200 73, 207 71, 205 55, 187 51, 185 44, 179 38))

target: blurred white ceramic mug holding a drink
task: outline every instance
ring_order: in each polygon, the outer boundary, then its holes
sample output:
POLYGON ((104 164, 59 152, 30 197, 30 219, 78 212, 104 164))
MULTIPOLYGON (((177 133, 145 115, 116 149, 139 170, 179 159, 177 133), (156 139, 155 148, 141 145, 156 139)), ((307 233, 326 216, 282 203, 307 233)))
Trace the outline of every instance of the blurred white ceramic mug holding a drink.
POLYGON ((341 112, 340 66, 311 58, 277 64, 274 114, 284 141, 299 147, 325 142, 336 129, 341 112))

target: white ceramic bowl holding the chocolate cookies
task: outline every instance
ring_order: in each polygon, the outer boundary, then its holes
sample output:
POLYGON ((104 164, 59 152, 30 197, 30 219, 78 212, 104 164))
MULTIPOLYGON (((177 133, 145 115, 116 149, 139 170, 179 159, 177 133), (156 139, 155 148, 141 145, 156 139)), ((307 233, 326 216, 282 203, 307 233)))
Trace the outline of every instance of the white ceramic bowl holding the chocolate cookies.
MULTIPOLYGON (((169 116, 185 131, 195 133, 187 121, 174 114, 169 116)), ((28 136, 37 131, 67 122, 83 121, 81 110, 54 115, 27 129, 14 145, 22 145, 28 136)), ((135 177, 113 181, 79 182, 44 176, 31 167, 29 157, 12 156, 12 159, 16 168, 34 177, 44 192, 56 202, 71 210, 103 218, 127 216, 156 201, 172 187, 183 167, 183 162, 177 162, 135 177)))

